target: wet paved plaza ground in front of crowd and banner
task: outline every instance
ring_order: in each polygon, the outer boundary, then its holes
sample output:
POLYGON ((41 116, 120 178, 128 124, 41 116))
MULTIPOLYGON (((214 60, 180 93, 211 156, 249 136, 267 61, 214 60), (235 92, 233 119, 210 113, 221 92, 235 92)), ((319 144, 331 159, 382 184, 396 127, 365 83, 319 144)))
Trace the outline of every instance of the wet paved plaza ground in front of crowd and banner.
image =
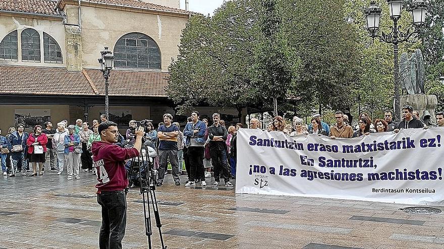
MULTIPOLYGON (((0 179, 0 248, 98 248, 95 178, 81 178, 46 173, 0 179)), ((444 248, 442 213, 409 214, 399 204, 236 195, 225 187, 185 188, 185 180, 176 187, 168 175, 156 190, 168 248, 444 248)), ((124 248, 148 248, 140 200, 132 189, 124 248)), ((153 230, 153 248, 160 248, 153 230)))

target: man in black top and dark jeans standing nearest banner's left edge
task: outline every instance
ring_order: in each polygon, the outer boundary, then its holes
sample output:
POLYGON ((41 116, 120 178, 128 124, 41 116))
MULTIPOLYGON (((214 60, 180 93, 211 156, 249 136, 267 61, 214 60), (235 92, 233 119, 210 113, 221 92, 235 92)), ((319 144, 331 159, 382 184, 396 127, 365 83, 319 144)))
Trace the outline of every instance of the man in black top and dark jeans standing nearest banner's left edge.
POLYGON ((220 115, 218 113, 213 114, 214 124, 208 127, 208 138, 210 139, 209 147, 211 154, 211 163, 213 164, 214 170, 214 183, 212 187, 219 186, 219 175, 222 175, 225 180, 225 186, 233 187, 230 183, 230 173, 228 171, 227 163, 227 145, 225 140, 227 140, 228 131, 225 126, 219 124, 220 115))

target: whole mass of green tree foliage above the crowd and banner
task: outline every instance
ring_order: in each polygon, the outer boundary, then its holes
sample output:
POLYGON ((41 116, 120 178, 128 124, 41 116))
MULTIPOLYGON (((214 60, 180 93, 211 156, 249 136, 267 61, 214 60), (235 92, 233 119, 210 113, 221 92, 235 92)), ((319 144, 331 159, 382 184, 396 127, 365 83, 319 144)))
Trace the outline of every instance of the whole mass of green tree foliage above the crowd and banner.
MULTIPOLYGON (((405 0, 406 6, 410 0, 405 0)), ((344 110, 372 118, 393 108, 393 46, 373 40, 363 11, 369 0, 233 0, 214 16, 193 16, 183 30, 178 59, 170 65, 169 94, 182 111, 205 104, 249 106, 311 115, 344 110), (289 98, 290 97, 290 98, 289 98)), ((444 1, 430 0, 425 33, 399 46, 400 54, 421 48, 427 93, 442 98, 444 1)), ((385 0, 380 31, 393 21, 385 0)), ((410 27, 404 8, 399 25, 410 27)), ((404 30, 405 28, 402 28, 404 30)), ((442 103, 442 101, 440 102, 442 103)))

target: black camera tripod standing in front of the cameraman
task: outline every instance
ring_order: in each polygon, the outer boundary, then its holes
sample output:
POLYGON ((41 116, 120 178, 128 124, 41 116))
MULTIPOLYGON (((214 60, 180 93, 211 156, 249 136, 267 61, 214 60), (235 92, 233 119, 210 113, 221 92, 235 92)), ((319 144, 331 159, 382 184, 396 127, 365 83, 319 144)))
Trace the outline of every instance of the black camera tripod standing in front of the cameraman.
MULTIPOLYGON (((151 244, 151 235, 152 235, 152 223, 151 223, 151 210, 149 206, 149 200, 151 199, 152 209, 154 213, 154 219, 156 221, 156 227, 159 229, 159 236, 160 236, 160 243, 161 243, 161 249, 167 249, 167 246, 163 243, 163 236, 162 236, 162 224, 160 223, 160 215, 159 215, 159 209, 157 208, 157 199, 156 199, 156 184, 157 180, 155 178, 154 170, 153 170, 153 164, 154 164, 154 157, 156 157, 157 153, 156 151, 149 147, 142 144, 142 149, 140 150, 140 154, 137 157, 133 157, 131 159, 131 167, 130 172, 128 174, 128 187, 125 189, 125 194, 128 194, 130 186, 137 181, 135 179, 133 181, 133 172, 134 172, 134 165, 136 164, 136 158, 138 159, 139 163, 139 195, 142 196, 143 200, 143 214, 145 219, 145 234, 147 236, 147 242, 148 242, 148 248, 152 248, 151 244), (150 160, 152 159, 152 161, 150 160)), ((137 177, 137 176, 136 176, 137 177)))

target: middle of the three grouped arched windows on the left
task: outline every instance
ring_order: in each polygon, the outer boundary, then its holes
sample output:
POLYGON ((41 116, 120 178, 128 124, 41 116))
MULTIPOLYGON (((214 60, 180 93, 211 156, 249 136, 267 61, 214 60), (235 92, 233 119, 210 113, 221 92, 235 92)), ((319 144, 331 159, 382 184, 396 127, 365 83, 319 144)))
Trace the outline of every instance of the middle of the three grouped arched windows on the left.
POLYGON ((40 62, 40 35, 33 29, 25 29, 22 39, 22 61, 40 62))

